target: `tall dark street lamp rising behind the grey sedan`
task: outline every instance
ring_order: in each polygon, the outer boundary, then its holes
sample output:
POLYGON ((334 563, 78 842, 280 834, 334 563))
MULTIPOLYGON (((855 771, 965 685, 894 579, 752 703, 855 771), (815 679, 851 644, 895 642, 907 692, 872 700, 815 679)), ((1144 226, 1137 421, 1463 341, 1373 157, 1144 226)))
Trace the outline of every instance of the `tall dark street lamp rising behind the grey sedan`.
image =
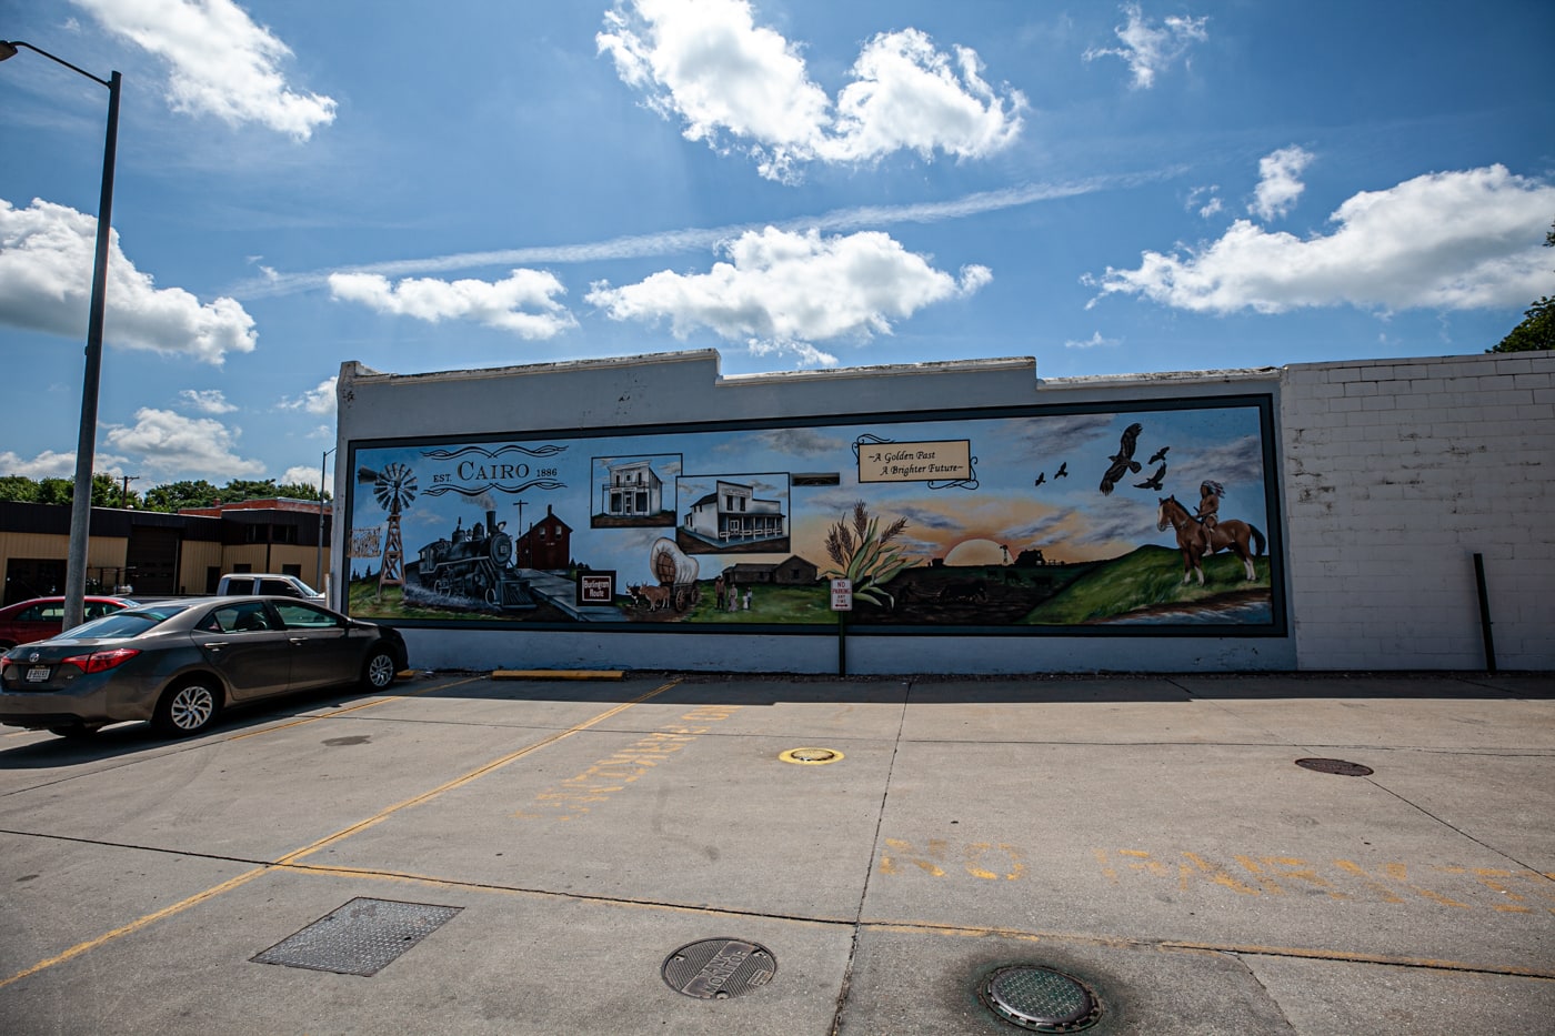
POLYGON ((107 87, 107 142, 103 145, 103 198, 98 202, 96 255, 92 260, 92 308, 87 313, 87 369, 81 383, 81 436, 76 440, 76 488, 70 501, 70 555, 65 560, 65 627, 81 625, 87 594, 87 543, 92 538, 92 460, 96 450, 96 397, 103 375, 103 308, 107 292, 107 238, 114 216, 114 154, 118 149, 118 84, 110 72, 100 79, 64 58, 19 39, 0 40, 0 61, 16 58, 25 47, 54 64, 107 87))

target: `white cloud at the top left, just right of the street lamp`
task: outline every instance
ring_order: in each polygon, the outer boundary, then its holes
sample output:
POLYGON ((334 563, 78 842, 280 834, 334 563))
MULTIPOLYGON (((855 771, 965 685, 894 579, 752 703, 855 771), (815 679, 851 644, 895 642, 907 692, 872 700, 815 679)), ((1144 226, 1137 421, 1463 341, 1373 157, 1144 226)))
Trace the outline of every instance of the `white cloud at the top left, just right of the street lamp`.
POLYGON ((75 0, 110 33, 169 65, 174 110, 229 124, 260 123, 297 140, 334 121, 334 100, 297 93, 280 64, 291 56, 274 33, 232 0, 75 0))

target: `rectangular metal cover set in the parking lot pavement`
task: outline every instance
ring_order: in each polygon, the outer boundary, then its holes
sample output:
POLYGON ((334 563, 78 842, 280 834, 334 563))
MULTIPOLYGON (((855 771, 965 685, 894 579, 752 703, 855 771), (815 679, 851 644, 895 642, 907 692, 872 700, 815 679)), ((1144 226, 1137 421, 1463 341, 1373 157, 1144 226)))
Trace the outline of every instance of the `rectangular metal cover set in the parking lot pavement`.
POLYGON ((358 896, 252 960, 342 975, 373 975, 460 910, 463 907, 358 896))

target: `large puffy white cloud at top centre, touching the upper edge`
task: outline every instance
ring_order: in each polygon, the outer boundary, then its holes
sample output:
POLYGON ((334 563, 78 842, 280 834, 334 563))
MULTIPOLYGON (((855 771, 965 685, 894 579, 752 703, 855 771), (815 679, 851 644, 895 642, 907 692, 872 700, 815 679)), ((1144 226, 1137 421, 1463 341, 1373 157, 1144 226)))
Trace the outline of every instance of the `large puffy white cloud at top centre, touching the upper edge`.
POLYGON ((748 0, 620 0, 596 36, 648 107, 680 117, 687 140, 725 135, 762 176, 796 179, 805 162, 869 162, 913 149, 977 159, 1020 134, 1019 90, 994 90, 973 50, 938 50, 919 30, 880 33, 835 101, 810 81, 799 47, 756 25, 748 0))

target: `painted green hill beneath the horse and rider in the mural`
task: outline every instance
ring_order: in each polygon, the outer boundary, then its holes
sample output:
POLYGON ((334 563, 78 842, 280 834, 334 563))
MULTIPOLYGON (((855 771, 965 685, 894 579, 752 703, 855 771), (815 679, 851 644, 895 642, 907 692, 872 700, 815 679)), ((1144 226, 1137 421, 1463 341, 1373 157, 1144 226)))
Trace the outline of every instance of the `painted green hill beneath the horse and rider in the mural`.
POLYGON ((1241 560, 1216 554, 1204 560, 1205 585, 1197 579, 1182 582, 1182 552, 1163 546, 1141 546, 1112 562, 1102 562, 1025 619, 1026 625, 1075 625, 1112 619, 1140 608, 1210 602, 1232 593, 1269 590, 1269 558, 1255 557, 1258 579, 1247 582, 1241 560))

